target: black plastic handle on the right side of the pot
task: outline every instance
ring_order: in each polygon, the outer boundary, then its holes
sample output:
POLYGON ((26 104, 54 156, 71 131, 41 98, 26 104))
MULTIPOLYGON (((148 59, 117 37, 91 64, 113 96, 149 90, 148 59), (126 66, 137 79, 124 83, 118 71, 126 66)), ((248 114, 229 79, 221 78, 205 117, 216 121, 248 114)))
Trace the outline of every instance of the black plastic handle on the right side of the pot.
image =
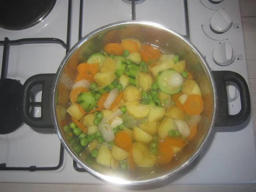
POLYGON ((250 92, 244 78, 233 71, 212 71, 218 95, 216 127, 240 125, 250 115, 250 92), (241 110, 236 115, 228 113, 227 89, 225 82, 232 81, 239 87, 241 110))

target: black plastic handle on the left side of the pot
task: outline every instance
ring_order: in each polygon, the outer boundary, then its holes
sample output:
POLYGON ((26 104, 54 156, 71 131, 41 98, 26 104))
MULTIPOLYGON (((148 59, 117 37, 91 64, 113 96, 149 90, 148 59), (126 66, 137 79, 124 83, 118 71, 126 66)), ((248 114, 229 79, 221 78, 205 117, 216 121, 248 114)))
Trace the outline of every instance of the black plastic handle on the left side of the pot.
POLYGON ((37 74, 26 80, 24 83, 24 93, 21 107, 21 117, 23 121, 35 128, 53 128, 51 109, 50 109, 50 97, 52 90, 52 81, 55 74, 37 74), (29 113, 30 91, 32 87, 37 84, 43 85, 42 100, 41 100, 41 117, 34 117, 29 113))

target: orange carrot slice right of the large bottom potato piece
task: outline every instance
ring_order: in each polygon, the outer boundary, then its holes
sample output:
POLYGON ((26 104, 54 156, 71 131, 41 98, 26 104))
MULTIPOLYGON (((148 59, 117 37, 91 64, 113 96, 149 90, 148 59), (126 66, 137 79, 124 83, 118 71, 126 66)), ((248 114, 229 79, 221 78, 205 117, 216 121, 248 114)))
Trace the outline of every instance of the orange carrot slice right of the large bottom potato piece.
POLYGON ((171 162, 172 157, 174 155, 172 146, 169 145, 168 142, 163 141, 158 143, 158 157, 157 157, 157 163, 165 165, 169 162, 171 162))

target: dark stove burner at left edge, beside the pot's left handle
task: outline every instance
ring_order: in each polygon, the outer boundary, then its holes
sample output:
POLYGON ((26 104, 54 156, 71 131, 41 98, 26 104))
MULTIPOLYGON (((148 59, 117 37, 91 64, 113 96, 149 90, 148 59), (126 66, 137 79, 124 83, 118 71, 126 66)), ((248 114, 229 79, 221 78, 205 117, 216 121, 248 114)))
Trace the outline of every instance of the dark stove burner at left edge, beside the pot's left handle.
POLYGON ((9 134, 23 123, 20 115, 23 85, 13 79, 0 79, 0 134, 9 134))

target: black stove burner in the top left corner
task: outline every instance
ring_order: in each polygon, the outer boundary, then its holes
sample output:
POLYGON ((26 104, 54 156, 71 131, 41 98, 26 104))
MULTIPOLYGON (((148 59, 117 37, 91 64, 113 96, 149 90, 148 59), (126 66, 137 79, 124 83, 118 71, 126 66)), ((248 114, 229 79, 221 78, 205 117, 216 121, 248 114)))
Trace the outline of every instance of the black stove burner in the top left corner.
POLYGON ((56 0, 1 0, 0 27, 21 30, 44 20, 56 0))

